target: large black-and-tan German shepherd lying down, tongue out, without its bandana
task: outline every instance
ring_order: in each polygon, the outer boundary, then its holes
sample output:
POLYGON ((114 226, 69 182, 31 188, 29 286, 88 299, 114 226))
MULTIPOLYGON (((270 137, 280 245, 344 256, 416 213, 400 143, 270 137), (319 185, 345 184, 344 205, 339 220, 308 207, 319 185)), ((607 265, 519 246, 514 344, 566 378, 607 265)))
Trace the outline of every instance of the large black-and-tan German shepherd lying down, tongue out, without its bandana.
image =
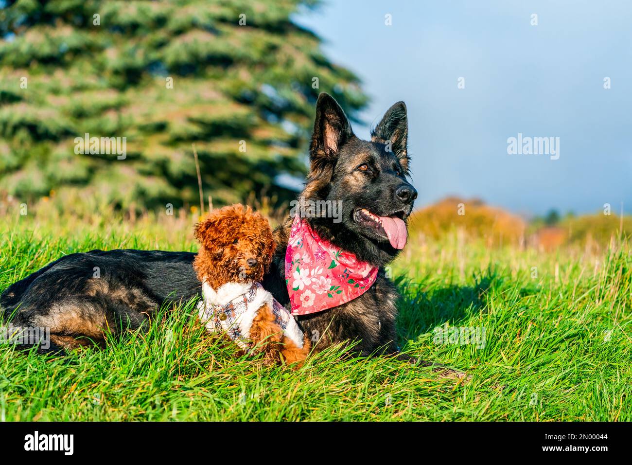
MULTIPOLYGON (((356 137, 343 109, 320 94, 310 143, 310 171, 300 194, 306 201, 341 201, 340 221, 308 218, 322 239, 379 267, 377 280, 364 294, 317 314, 297 317, 315 350, 356 342, 355 352, 398 354, 398 292, 384 273, 405 244, 403 225, 417 197, 406 180, 408 120, 397 102, 372 130, 370 141, 356 137), (400 230, 385 229, 396 221, 400 230), (399 237, 393 239, 393 235, 399 237), (403 234, 403 237, 401 237, 403 234)), ((274 231, 276 252, 264 288, 290 306, 284 259, 292 218, 274 231)), ((104 330, 140 329, 165 301, 200 295, 193 270, 194 253, 164 251, 91 251, 62 257, 11 285, 0 297, 5 321, 14 327, 47 327, 51 349, 102 342, 104 330), (99 270, 99 275, 95 275, 99 270)), ((245 257, 240 257, 245 261, 245 257)), ((404 357, 405 358, 405 357, 404 357)), ((430 364, 430 363, 423 363, 430 364)))

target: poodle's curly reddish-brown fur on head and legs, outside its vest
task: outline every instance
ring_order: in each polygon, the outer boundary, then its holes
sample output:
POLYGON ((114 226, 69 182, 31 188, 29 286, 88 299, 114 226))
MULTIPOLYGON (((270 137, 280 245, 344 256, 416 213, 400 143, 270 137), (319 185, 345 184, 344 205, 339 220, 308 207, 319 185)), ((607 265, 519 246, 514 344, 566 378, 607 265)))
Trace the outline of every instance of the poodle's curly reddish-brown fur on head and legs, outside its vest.
MULTIPOLYGON (((200 249, 193 268, 200 282, 217 290, 229 282, 260 282, 269 271, 275 243, 268 220, 250 206, 234 204, 212 211, 195 225, 200 249)), ((269 306, 262 306, 250 328, 253 345, 262 350, 266 361, 299 364, 310 351, 305 337, 303 348, 284 336, 274 323, 269 306)))

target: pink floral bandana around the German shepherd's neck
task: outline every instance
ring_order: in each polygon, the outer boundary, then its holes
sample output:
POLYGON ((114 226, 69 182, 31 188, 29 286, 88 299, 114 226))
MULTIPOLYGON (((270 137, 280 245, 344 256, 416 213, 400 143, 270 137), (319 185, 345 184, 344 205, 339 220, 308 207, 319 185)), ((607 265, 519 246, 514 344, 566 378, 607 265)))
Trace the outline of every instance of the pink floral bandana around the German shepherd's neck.
POLYGON ((375 278, 377 266, 320 239, 305 219, 296 216, 285 252, 285 282, 293 315, 317 313, 352 301, 375 278))

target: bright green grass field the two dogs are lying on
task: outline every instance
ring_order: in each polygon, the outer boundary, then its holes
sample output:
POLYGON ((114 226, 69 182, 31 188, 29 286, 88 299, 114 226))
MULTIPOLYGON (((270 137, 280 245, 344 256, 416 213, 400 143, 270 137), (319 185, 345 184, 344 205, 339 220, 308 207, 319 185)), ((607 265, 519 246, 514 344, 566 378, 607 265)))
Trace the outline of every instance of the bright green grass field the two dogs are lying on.
MULTIPOLYGON (((0 290, 71 252, 195 250, 193 222, 5 218, 0 290)), ((105 350, 50 357, 1 347, 0 419, 632 420, 629 244, 588 256, 411 239, 391 272, 403 350, 465 370, 468 383, 336 349, 298 370, 267 367, 205 333, 184 306, 105 350), (435 343, 446 322, 485 328, 485 344, 435 343)))

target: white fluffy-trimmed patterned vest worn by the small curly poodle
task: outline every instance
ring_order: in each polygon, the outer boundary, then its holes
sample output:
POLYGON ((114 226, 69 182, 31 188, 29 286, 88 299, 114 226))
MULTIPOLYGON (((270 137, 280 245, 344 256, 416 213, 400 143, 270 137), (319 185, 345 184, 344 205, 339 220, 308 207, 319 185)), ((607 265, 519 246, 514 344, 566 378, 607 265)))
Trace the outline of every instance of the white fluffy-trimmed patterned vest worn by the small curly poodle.
POLYGON ((209 332, 224 330, 243 350, 252 349, 248 340, 252 321, 260 307, 268 304, 274 314, 274 323, 297 347, 303 348, 303 332, 291 314, 260 283, 226 283, 217 290, 202 283, 204 299, 198 304, 198 316, 209 332))

